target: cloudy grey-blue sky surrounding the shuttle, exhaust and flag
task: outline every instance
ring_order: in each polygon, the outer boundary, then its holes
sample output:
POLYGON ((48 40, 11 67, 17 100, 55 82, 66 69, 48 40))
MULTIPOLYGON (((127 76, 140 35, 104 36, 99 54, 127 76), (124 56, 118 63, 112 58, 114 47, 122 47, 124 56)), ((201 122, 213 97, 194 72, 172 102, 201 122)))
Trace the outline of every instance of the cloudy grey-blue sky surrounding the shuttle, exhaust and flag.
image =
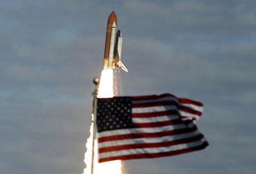
POLYGON ((0 171, 83 173, 93 77, 115 10, 124 95, 200 100, 205 150, 129 173, 256 173, 256 2, 1 0, 0 171))

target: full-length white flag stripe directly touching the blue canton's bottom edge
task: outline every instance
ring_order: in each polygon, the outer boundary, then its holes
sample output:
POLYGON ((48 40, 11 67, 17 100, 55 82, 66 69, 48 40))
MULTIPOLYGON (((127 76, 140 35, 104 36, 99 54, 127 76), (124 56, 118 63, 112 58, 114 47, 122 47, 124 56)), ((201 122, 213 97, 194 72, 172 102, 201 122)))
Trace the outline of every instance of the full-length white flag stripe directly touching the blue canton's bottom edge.
POLYGON ((179 124, 179 125, 167 125, 163 127, 117 129, 113 131, 99 132, 98 137, 101 138, 104 136, 116 136, 116 135, 124 135, 124 134, 156 133, 156 132, 164 132, 164 131, 173 131, 173 130, 184 129, 188 127, 193 127, 194 125, 195 125, 194 123, 189 123, 188 125, 179 124))

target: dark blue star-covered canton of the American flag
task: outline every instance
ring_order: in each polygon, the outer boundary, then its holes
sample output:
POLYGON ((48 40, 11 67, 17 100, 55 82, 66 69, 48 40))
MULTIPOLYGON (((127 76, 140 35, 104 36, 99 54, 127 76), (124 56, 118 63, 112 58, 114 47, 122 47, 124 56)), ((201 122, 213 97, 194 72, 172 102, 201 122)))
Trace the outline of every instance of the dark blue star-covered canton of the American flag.
POLYGON ((129 97, 97 100, 98 132, 132 128, 132 102, 129 97))

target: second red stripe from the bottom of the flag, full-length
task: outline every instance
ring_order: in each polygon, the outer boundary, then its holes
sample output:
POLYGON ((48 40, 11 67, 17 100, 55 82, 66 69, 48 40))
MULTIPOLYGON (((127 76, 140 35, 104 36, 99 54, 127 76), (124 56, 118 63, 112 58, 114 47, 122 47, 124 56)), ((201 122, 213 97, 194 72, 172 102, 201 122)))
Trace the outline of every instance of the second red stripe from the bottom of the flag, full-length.
POLYGON ((164 141, 160 143, 138 143, 138 144, 131 144, 131 145, 109 146, 109 147, 99 148, 99 153, 111 152, 116 150, 133 149, 133 148, 156 148, 156 147, 162 147, 162 146, 173 146, 173 145, 179 145, 183 143, 191 143, 193 141, 198 141, 203 137, 204 136, 202 134, 198 134, 190 138, 176 139, 173 141, 164 141))

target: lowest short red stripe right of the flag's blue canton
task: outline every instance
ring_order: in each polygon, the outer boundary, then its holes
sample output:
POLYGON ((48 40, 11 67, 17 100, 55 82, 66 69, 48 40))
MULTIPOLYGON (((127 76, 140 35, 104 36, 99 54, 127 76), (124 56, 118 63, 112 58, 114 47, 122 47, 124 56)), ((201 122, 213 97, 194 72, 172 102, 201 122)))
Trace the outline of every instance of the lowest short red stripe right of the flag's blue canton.
POLYGON ((180 119, 178 120, 168 120, 168 121, 163 121, 163 122, 152 122, 152 123, 133 123, 135 128, 146 128, 146 127, 162 127, 166 125, 179 125, 183 124, 180 119))

